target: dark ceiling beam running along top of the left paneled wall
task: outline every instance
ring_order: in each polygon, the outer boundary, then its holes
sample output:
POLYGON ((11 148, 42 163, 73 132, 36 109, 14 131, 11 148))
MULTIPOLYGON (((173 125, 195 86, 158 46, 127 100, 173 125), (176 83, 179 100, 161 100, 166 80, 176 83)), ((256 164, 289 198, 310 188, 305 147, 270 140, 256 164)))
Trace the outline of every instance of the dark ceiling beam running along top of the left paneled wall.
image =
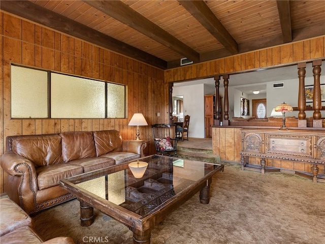
POLYGON ((154 67, 160 69, 167 68, 167 62, 163 59, 95 31, 77 21, 42 8, 30 1, 1 1, 0 9, 55 29, 61 33, 107 48, 113 52, 135 58, 154 67))

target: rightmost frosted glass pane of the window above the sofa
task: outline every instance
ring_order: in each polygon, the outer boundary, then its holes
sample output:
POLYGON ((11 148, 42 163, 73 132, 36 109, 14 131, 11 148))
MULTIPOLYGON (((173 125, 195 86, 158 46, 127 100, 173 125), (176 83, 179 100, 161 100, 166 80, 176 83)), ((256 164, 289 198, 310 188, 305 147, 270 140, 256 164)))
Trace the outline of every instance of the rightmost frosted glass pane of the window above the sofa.
POLYGON ((107 117, 125 118, 125 86, 107 83, 107 117))

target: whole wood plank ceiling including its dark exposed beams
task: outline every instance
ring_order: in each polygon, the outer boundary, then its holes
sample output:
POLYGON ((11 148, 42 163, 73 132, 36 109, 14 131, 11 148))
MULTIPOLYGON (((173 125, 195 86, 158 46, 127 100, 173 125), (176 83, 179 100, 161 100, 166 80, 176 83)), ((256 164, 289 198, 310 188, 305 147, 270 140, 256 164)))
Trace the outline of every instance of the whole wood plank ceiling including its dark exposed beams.
POLYGON ((3 11, 161 69, 325 35, 325 1, 2 1, 3 11))

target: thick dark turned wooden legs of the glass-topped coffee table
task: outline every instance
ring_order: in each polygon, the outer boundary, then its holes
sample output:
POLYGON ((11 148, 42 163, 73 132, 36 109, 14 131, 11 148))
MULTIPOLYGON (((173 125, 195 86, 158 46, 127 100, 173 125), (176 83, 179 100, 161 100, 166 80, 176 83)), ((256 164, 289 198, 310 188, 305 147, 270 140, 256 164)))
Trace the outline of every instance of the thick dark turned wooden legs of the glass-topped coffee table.
MULTIPOLYGON (((210 177, 206 181, 206 185, 200 190, 200 202, 202 204, 209 204, 210 201, 210 185, 212 178, 210 177)), ((87 227, 93 223, 93 207, 89 206, 85 201, 79 199, 80 202, 80 221, 81 226, 87 227)), ((150 244, 151 230, 154 226, 146 229, 145 231, 140 231, 138 229, 131 229, 133 231, 133 243, 134 244, 150 244)))

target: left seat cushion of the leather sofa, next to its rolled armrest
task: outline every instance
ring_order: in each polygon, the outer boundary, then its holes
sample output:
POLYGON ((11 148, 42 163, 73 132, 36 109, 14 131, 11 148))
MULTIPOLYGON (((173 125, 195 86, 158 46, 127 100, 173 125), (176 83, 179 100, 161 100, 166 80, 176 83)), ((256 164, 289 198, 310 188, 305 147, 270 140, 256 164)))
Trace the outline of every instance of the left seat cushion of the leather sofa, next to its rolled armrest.
POLYGON ((39 190, 58 186, 59 180, 83 173, 81 166, 71 164, 53 164, 36 169, 39 190))

